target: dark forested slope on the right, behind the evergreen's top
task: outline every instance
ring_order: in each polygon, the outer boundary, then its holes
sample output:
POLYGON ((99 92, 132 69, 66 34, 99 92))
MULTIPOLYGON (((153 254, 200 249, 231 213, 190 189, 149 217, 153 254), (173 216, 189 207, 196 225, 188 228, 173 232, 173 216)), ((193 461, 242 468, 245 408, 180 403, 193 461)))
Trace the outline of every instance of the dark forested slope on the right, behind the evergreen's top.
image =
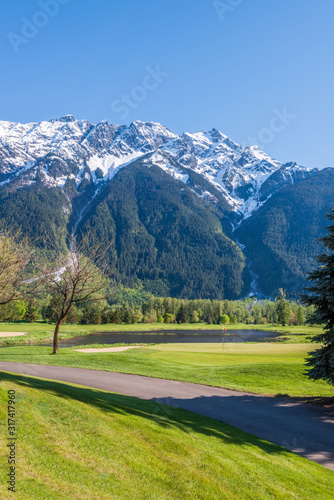
POLYGON ((333 185, 334 169, 321 170, 275 193, 236 230, 264 294, 273 297, 284 288, 298 298, 307 285, 307 273, 317 267, 322 251, 319 238, 334 203, 333 185))

